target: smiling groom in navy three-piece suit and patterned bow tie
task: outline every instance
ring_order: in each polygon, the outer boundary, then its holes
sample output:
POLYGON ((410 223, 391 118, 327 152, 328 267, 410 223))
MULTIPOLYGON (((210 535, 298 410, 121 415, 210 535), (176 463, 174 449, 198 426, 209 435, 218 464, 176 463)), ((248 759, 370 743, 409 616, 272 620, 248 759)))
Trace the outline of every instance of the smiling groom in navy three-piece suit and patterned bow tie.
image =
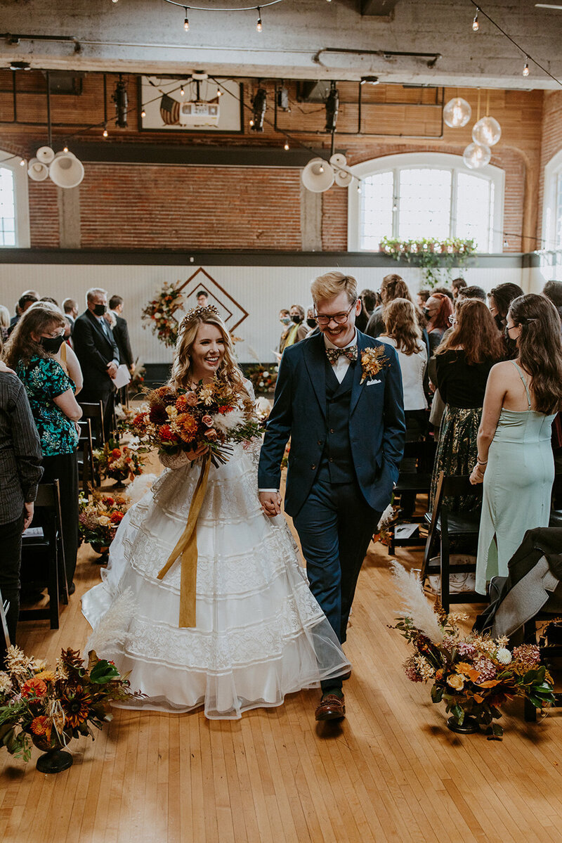
MULTIPOLYGON (((258 481, 265 513, 279 514, 291 437, 285 509, 311 591, 343 643, 362 561, 398 479, 402 377, 393 347, 356 330, 355 278, 328 272, 311 293, 321 333, 283 352, 258 481)), ((344 717, 341 679, 324 680, 322 691, 316 719, 344 717)))

